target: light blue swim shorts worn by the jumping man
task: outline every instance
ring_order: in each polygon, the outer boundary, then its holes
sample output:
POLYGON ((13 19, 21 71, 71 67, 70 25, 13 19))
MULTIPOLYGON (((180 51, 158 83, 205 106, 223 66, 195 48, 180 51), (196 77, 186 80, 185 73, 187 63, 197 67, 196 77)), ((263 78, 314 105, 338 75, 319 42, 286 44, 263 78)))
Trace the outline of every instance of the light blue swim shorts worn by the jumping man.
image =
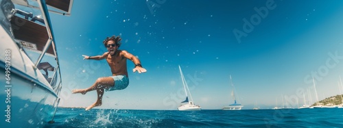
POLYGON ((128 87, 129 84, 129 79, 126 77, 126 75, 116 75, 116 76, 111 76, 113 80, 115 80, 115 86, 112 86, 110 88, 106 88, 107 91, 112 91, 112 90, 123 90, 126 87, 128 87))

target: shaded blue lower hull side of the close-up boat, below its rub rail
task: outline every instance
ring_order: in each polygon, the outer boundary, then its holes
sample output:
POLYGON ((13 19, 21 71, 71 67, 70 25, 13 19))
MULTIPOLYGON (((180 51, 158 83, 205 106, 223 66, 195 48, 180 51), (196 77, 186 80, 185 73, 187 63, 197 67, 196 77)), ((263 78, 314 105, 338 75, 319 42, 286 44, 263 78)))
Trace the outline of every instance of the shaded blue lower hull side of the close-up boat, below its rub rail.
MULTIPOLYGON (((0 75, 4 76, 4 73, 1 68, 0 75)), ((1 78, 0 82, 5 84, 5 79, 1 78)), ((10 121, 2 123, 1 127, 46 126, 55 111, 56 94, 14 73, 11 74, 11 83, 12 86, 1 86, 1 90, 9 90, 0 91, 3 100, 8 98, 8 103, 1 104, 1 107, 5 107, 5 112, 9 111, 0 120, 10 121)))

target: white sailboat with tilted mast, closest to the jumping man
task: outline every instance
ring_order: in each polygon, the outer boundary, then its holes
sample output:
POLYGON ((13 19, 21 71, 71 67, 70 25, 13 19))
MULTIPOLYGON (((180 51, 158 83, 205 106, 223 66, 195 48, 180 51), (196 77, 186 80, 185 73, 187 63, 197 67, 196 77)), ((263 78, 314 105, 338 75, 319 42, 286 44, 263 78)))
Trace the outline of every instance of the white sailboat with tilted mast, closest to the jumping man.
POLYGON ((185 89, 185 94, 186 94, 186 99, 185 99, 185 101, 181 102, 181 105, 178 107, 178 110, 179 111, 201 110, 201 107, 199 105, 195 105, 194 102, 193 102, 193 98, 191 96, 191 92, 189 91, 186 79, 183 76, 183 73, 182 73, 180 65, 178 66, 178 68, 180 69, 180 75, 181 75, 181 79, 182 79, 182 84, 183 84, 183 88, 185 89), (190 99, 188 99, 188 95, 189 95, 190 99))

